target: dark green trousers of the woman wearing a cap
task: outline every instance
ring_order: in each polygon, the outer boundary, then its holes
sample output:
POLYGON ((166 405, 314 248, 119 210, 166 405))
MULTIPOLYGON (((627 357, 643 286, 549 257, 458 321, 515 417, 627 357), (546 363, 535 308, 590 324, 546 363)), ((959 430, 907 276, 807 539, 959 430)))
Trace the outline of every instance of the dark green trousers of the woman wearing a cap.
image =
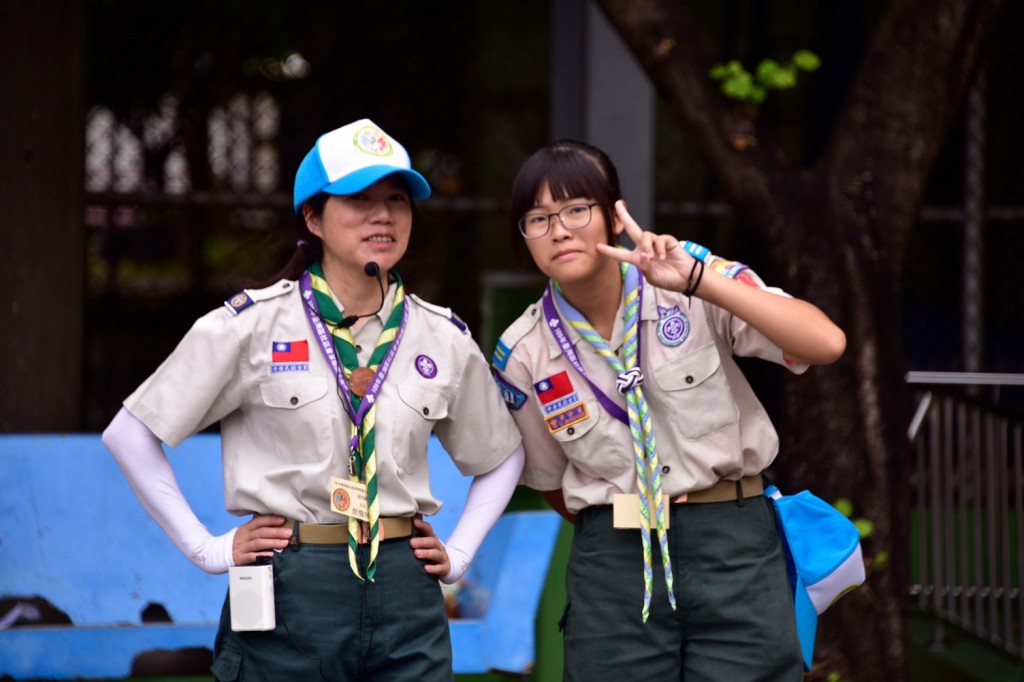
MULTIPOLYGON (((368 547, 360 547, 366 565, 368 547)), ((374 583, 361 583, 344 545, 275 553, 269 632, 232 632, 224 600, 213 674, 222 682, 330 680, 451 682, 452 640, 440 586, 409 538, 385 541, 374 583)))

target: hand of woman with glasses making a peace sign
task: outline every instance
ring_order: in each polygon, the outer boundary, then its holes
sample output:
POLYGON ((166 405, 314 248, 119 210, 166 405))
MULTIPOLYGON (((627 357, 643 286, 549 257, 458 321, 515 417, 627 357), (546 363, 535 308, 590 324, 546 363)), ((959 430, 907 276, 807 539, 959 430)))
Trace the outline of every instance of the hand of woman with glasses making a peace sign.
POLYGON ((681 248, 672 235, 656 235, 641 229, 626 210, 626 203, 615 202, 615 215, 626 227, 626 233, 636 245, 633 250, 598 244, 597 250, 609 258, 633 263, 647 282, 662 289, 686 291, 687 279, 693 267, 693 256, 681 248))

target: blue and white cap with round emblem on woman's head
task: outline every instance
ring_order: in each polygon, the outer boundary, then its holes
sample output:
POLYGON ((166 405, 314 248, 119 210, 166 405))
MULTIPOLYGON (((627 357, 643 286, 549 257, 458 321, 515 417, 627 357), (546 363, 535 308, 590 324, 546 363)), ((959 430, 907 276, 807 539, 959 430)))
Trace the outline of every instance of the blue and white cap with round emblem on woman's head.
POLYGON ((406 147, 370 119, 359 119, 321 135, 299 164, 293 195, 295 212, 322 191, 351 195, 392 173, 404 178, 413 199, 430 196, 430 185, 413 170, 406 147))

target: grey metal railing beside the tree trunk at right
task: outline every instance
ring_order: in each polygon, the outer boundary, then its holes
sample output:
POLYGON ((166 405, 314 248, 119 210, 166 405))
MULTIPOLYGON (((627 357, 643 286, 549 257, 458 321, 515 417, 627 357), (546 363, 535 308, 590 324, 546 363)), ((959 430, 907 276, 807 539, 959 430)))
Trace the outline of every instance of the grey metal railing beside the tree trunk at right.
POLYGON ((1021 374, 908 373, 920 386, 910 594, 935 616, 932 644, 954 626, 1024 659, 1024 420, 950 386, 1024 386, 1021 374))

